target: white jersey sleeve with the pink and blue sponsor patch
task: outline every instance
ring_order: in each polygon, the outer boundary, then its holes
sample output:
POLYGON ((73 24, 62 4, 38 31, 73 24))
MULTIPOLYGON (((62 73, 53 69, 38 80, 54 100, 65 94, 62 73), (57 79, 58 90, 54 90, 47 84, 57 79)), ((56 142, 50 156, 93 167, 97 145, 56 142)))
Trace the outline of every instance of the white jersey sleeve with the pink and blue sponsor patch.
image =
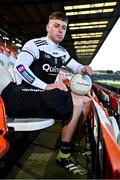
POLYGON ((47 84, 37 78, 29 68, 34 59, 39 56, 37 51, 38 50, 33 43, 26 43, 22 48, 22 52, 18 56, 14 66, 14 71, 28 84, 40 89, 45 89, 47 84))

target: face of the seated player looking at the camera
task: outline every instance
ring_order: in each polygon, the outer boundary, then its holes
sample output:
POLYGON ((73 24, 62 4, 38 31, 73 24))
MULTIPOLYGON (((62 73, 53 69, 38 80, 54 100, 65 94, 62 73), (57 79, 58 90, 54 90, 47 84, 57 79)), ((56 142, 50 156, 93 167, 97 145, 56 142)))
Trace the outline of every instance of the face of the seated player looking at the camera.
POLYGON ((47 36, 55 43, 60 43, 65 36, 67 23, 58 19, 51 19, 47 25, 47 36))

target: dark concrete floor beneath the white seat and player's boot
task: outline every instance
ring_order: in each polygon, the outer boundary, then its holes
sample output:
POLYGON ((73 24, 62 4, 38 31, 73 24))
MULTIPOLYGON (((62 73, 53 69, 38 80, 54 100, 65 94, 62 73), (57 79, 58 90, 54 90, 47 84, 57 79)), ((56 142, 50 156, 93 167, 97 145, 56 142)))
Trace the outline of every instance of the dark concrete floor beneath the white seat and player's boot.
MULTIPOLYGON (((56 165, 60 130, 60 122, 56 122, 42 131, 14 132, 9 153, 0 162, 0 179, 88 179, 87 175, 73 175, 56 165)), ((86 167, 86 158, 79 159, 86 167)))

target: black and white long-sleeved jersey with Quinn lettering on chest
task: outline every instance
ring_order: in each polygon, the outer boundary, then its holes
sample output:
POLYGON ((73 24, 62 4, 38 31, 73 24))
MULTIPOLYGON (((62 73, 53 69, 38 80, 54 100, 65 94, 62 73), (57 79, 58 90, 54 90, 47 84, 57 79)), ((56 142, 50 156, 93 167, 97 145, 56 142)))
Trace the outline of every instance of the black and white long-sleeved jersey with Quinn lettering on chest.
POLYGON ((23 46, 15 71, 27 83, 44 89, 47 84, 54 83, 61 66, 67 66, 76 73, 83 67, 59 44, 42 37, 23 46))

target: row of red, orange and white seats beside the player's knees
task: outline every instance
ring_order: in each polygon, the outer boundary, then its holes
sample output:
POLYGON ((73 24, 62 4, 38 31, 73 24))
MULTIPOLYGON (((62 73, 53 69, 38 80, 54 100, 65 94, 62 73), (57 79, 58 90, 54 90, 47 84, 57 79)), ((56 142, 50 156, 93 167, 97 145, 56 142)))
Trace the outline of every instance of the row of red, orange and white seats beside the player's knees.
POLYGON ((94 178, 120 178, 119 95, 93 84, 87 121, 94 178), (112 97, 112 98, 111 98, 112 97))

